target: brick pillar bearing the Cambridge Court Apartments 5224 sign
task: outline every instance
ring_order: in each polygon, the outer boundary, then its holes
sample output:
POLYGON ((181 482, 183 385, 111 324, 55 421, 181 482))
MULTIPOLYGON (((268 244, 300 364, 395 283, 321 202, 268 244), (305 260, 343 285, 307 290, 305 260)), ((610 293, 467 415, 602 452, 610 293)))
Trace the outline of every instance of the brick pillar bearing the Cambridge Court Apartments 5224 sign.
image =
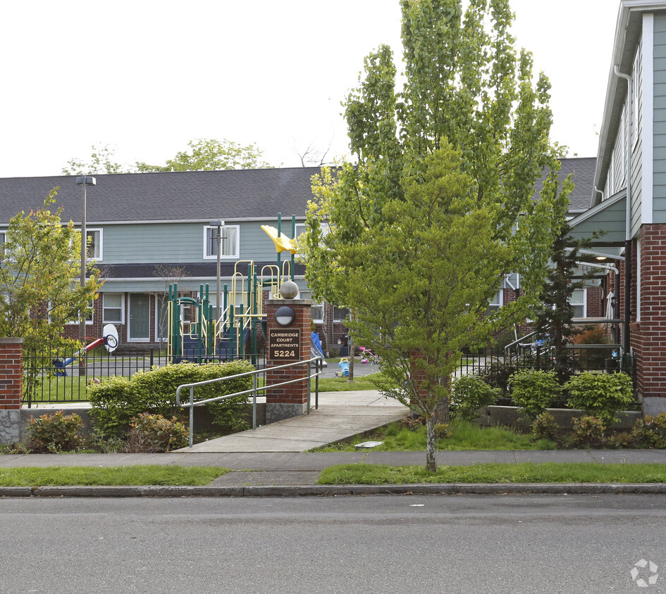
MULTIPOLYGON (((311 356, 311 308, 309 299, 269 299, 266 301, 266 384, 278 384, 297 377, 305 377, 307 364, 286 369, 272 369, 291 360, 307 361, 311 356), (275 315, 278 308, 287 305, 295 313, 290 326, 280 326, 275 315), (284 336, 280 336, 280 334, 284 336), (288 335, 288 336, 287 336, 288 335), (293 337, 297 341, 293 342, 293 337), (272 342, 271 343, 271 338, 272 342), (297 348, 290 348, 296 345, 297 348), (285 346, 285 348, 280 348, 285 346), (293 352, 295 351, 295 352, 293 352)), ((307 411, 307 381, 299 381, 266 391, 266 423, 297 417, 307 411)))

